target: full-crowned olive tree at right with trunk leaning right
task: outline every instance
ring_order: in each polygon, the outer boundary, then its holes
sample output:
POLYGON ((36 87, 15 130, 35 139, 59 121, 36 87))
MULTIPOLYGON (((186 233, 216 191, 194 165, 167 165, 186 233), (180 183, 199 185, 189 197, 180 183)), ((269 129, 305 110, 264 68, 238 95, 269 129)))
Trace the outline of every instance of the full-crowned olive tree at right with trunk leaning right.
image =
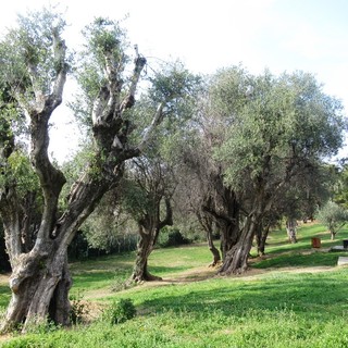
POLYGON ((215 96, 231 125, 215 159, 223 163, 225 184, 248 197, 240 236, 221 269, 228 274, 247 269, 262 219, 298 177, 313 175, 337 152, 346 124, 340 102, 310 74, 253 76, 235 67, 216 80, 215 96))

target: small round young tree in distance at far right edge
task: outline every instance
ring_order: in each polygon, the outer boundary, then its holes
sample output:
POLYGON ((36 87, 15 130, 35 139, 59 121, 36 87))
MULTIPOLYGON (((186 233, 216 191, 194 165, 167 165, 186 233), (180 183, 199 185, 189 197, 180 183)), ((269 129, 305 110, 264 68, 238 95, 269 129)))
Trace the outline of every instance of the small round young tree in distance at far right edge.
POLYGON ((328 228, 331 239, 334 240, 337 232, 347 223, 348 212, 337 203, 327 201, 319 210, 318 220, 328 228))

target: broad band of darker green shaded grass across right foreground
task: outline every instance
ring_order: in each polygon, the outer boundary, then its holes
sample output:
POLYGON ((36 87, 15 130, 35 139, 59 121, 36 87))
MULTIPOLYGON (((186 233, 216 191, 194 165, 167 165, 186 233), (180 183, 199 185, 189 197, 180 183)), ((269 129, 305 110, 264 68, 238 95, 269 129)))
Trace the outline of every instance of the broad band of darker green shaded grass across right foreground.
POLYGON ((283 276, 281 281, 236 282, 204 288, 188 286, 177 294, 153 294, 154 298, 144 300, 142 307, 152 312, 171 310, 201 316, 219 311, 241 318, 253 310, 262 313, 287 309, 297 315, 328 320, 348 310, 345 277, 304 273, 283 276))

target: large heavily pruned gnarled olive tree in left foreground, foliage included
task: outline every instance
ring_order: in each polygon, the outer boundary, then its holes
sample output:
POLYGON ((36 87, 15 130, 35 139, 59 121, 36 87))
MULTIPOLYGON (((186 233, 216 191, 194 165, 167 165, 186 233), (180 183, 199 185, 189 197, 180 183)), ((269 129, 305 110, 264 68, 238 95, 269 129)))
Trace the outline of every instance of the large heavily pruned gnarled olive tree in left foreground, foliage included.
MULTIPOLYGON (((0 42, 1 78, 9 86, 18 113, 27 120, 30 163, 44 200, 35 243, 26 251, 21 243, 23 221, 18 214, 17 183, 1 182, 0 212, 12 268, 12 297, 3 331, 17 324, 23 324, 25 331, 30 323, 47 318, 59 324, 69 323, 70 243, 103 195, 120 185, 125 161, 146 148, 171 101, 184 95, 183 84, 175 85, 177 88, 169 94, 157 95, 151 121, 144 122, 133 139, 136 127, 132 110, 136 108, 136 92, 147 60, 138 50, 132 58, 127 54, 126 36, 117 22, 96 18, 84 32, 86 47, 74 70, 82 90, 74 107, 90 127, 91 151, 61 211, 59 201, 66 178, 51 161, 48 147, 50 119, 62 103, 72 66, 62 38, 64 27, 63 17, 57 13, 29 13, 20 16, 17 28, 0 42)), ((10 120, 9 125, 13 127, 14 123, 10 120)), ((7 136, 0 140, 1 148, 5 148, 1 150, 1 163, 7 171, 15 144, 8 141, 7 136)))

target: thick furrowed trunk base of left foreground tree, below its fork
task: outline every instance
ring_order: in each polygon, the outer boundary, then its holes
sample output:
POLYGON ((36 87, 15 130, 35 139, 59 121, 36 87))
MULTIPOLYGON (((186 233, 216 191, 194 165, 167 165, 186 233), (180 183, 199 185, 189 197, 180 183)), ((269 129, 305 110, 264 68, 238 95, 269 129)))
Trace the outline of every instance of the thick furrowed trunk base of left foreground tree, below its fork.
POLYGON ((12 298, 2 331, 24 324, 25 332, 30 325, 46 321, 48 314, 54 323, 66 325, 71 284, 66 252, 54 252, 53 244, 40 254, 35 251, 22 253, 10 277, 12 298))

